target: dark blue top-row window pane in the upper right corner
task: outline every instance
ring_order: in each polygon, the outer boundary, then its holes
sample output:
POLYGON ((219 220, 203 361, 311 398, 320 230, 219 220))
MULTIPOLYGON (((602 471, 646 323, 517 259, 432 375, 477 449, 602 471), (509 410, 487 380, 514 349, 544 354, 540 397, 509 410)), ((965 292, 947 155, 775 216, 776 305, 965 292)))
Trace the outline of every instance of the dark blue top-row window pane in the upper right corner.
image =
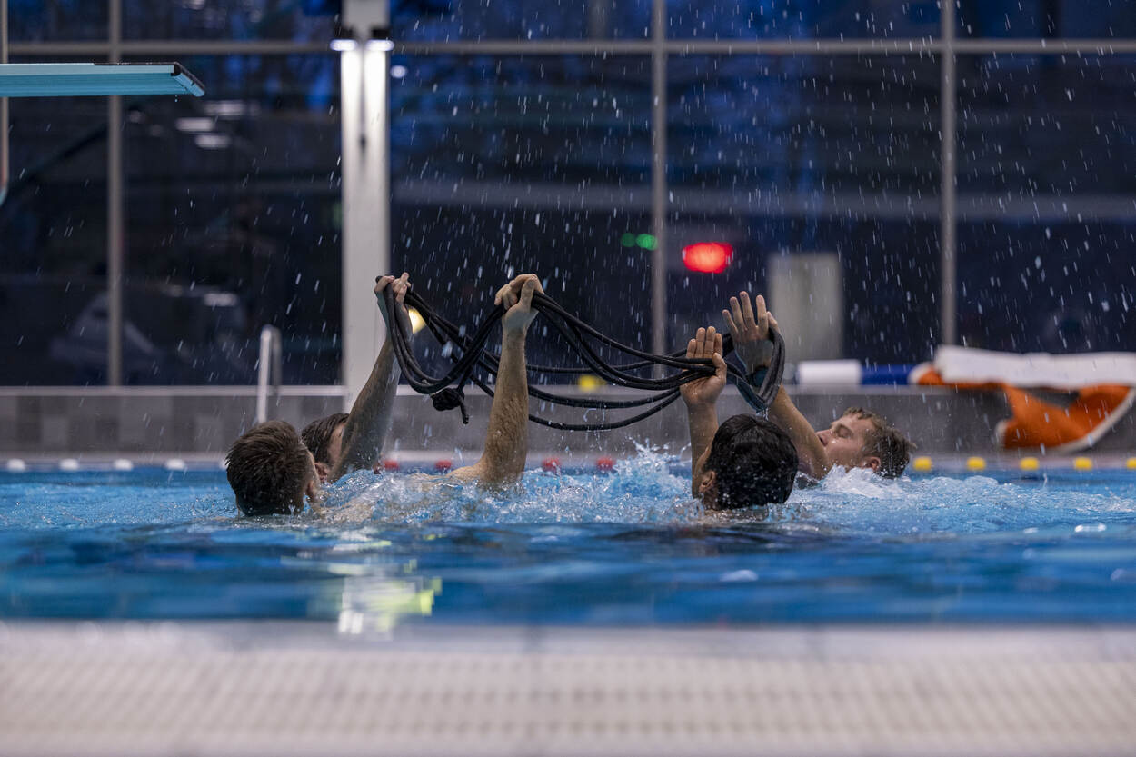
POLYGON ((958 19, 970 38, 1136 36, 1136 13, 1122 0, 959 0, 958 19))

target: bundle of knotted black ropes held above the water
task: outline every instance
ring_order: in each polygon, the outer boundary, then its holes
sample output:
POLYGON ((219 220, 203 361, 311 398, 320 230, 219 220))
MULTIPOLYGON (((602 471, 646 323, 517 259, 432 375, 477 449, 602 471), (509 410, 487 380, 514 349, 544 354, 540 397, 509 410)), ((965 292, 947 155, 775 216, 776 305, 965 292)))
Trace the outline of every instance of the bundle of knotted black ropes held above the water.
MULTIPOLYGON (((383 306, 386 308, 387 323, 391 324, 390 335, 399 367, 402 369, 407 383, 419 394, 429 394, 437 410, 461 410, 461 422, 469 423, 469 413, 465 406, 465 385, 471 383, 483 392, 493 397, 493 390, 488 383, 475 375, 475 369, 481 368, 485 373, 496 376, 501 361, 500 352, 493 352, 486 348, 493 327, 504 316, 503 306, 494 306, 481 323, 467 335, 467 331, 459 328, 437 313, 421 296, 411 289, 404 297, 404 305, 418 310, 426 327, 434 335, 440 344, 452 346, 450 358, 453 365, 450 371, 442 376, 433 376, 427 373, 415 357, 410 346, 414 328, 403 308, 396 307, 394 294, 390 288, 383 290, 383 306)), ((541 366, 529 365, 527 371, 532 375, 580 375, 595 374, 610 384, 640 389, 652 392, 648 397, 633 400, 615 400, 592 397, 563 397, 552 394, 541 390, 529 380, 528 394, 533 399, 550 405, 563 405, 566 407, 600 409, 600 410, 624 410, 630 408, 646 408, 641 413, 617 421, 601 421, 598 423, 562 423, 551 421, 537 415, 529 415, 528 419, 549 429, 560 431, 612 431, 623 429, 634 423, 648 418, 663 409, 678 399, 679 386, 683 384, 713 375, 713 363, 704 358, 686 358, 686 350, 677 350, 669 355, 652 355, 636 349, 628 344, 623 344, 610 336, 601 333, 575 315, 568 313, 556 301, 545 294, 536 292, 533 294, 533 309, 545 316, 545 319, 556 328, 568 342, 577 357, 584 363, 582 367, 566 366, 541 366), (598 352, 593 342, 600 342, 630 358, 629 363, 611 364, 604 360, 598 352), (645 377, 638 375, 645 368, 662 366, 671 373, 661 377, 645 377)), ((734 341, 729 334, 722 339, 722 355, 729 355, 734 349, 734 341)), ((737 386, 738 392, 745 401, 758 413, 763 413, 772 404, 780 388, 782 376, 785 372, 785 341, 774 328, 769 330, 770 361, 768 367, 758 368, 753 374, 746 376, 740 368, 727 363, 727 380, 737 386)))

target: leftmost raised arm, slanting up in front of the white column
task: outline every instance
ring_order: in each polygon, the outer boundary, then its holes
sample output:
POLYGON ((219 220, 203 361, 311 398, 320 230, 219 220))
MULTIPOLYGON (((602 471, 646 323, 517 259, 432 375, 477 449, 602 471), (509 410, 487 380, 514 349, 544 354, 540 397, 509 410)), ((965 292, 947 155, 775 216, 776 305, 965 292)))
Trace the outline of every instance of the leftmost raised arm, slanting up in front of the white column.
MULTIPOLYGON (((398 307, 402 305, 410 291, 410 274, 379 276, 375 280, 375 297, 378 298, 378 311, 386 322, 387 313, 383 306, 383 290, 387 286, 394 292, 398 307)), ((386 324, 387 339, 375 358, 367 383, 364 384, 351 406, 351 413, 343 425, 343 441, 339 461, 328 474, 329 481, 335 481, 344 474, 359 468, 369 468, 383 452, 383 442, 391 429, 391 414, 394 409, 394 397, 399 388, 399 363, 394 359, 394 348, 391 347, 391 324, 386 324)))

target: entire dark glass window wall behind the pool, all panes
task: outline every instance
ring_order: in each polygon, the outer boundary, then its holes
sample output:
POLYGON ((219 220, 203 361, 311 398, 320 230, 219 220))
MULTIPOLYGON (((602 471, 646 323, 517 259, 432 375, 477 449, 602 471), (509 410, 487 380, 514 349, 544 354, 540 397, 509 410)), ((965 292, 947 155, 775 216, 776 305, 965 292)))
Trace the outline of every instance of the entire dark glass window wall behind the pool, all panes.
MULTIPOLYGON (((535 269, 570 309, 641 346, 660 328, 682 344, 749 289, 770 297, 801 357, 912 361, 952 328, 995 349, 1130 349, 1136 57, 1108 53, 1136 39, 1136 13, 951 1, 966 50, 945 103, 953 271, 941 269, 944 6, 920 0, 668 0, 659 47, 642 44, 652 0, 392 2, 392 38, 416 52, 390 61, 392 268, 465 321, 535 269), (1039 43, 1078 39, 1093 42, 1063 55, 1039 43), (553 55, 543 43, 558 40, 603 44, 553 55), (840 45, 858 40, 868 53, 840 45), (919 42, 876 45, 894 40, 919 42), (777 55, 728 51, 735 41, 777 55), (684 249, 700 242, 726 246, 728 265, 692 271, 684 249), (659 252, 667 316, 654 324, 659 252), (952 273, 958 319, 944 328, 952 273)), ((53 60, 130 60, 164 40, 160 57, 206 83, 202 99, 124 98, 110 124, 124 135, 124 380, 248 383, 257 332, 274 324, 286 382, 337 382, 340 60, 323 45, 340 3, 123 0, 120 30, 110 8, 9 0, 9 22, 24 60, 39 44, 53 60), (192 55, 204 41, 219 47, 192 55), (252 55, 278 49, 294 51, 252 55)), ((0 381, 103 383, 107 100, 14 99, 11 114, 0 336, 20 359, 0 381)), ((557 361, 554 340, 536 349, 557 361)))

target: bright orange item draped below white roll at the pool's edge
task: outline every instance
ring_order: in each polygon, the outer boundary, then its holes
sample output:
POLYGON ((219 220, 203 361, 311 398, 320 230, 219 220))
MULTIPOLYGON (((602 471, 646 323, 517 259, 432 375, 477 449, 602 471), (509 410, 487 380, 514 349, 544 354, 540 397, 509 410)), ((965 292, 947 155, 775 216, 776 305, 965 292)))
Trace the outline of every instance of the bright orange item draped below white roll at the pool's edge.
POLYGON ((934 367, 925 366, 913 376, 921 386, 953 386, 1002 391, 1011 417, 995 427, 1005 449, 1042 448, 1054 452, 1076 452, 1095 444, 1136 401, 1136 389, 1101 384, 1078 390, 1066 406, 1047 402, 1025 389, 1002 383, 947 384, 934 367))

